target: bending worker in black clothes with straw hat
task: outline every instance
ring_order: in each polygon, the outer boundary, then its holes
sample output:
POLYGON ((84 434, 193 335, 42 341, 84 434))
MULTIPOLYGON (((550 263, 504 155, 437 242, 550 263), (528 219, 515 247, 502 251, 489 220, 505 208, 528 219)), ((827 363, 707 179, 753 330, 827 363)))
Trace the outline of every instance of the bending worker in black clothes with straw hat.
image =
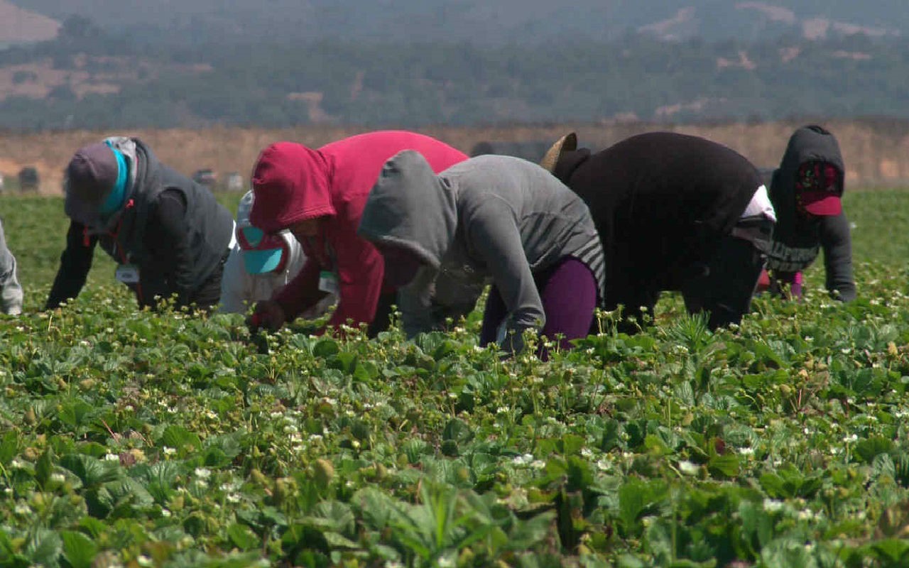
POLYGON ((620 304, 634 331, 664 290, 680 291, 689 313, 715 328, 737 324, 751 307, 764 267, 774 208, 744 156, 704 138, 636 135, 591 154, 573 134, 544 156, 544 167, 590 206, 603 240, 603 307, 620 304))

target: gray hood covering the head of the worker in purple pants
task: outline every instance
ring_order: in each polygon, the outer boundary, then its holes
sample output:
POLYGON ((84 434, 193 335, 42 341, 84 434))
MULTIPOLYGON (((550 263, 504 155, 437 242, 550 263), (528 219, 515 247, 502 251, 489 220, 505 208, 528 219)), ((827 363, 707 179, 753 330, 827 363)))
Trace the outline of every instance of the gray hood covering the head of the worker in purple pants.
POLYGON ((422 154, 405 150, 385 163, 366 199, 360 236, 394 244, 438 269, 457 229, 457 196, 422 154))

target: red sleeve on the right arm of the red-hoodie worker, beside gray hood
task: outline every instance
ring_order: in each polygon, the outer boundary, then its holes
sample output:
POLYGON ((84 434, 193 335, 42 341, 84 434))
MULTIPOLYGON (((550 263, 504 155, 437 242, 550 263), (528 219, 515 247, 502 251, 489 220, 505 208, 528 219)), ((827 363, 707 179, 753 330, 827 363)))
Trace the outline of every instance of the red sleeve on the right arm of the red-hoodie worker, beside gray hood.
POLYGON ((370 324, 382 293, 385 264, 375 246, 356 235, 355 224, 345 223, 332 239, 338 273, 338 304, 329 325, 335 329, 347 320, 370 324), (352 228, 353 227, 353 228, 352 228))

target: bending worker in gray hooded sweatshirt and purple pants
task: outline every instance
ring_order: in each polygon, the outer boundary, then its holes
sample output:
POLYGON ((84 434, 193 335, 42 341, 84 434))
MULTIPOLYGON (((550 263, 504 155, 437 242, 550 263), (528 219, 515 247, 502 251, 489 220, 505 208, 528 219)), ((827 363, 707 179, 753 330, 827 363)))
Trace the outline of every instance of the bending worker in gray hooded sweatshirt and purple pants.
MULTIPOLYGON (((491 279, 480 343, 523 348, 535 329, 561 346, 586 336, 604 287, 603 246, 587 205, 533 162, 482 155, 435 174, 402 152, 385 164, 359 234, 405 286, 405 331, 424 331, 436 279, 491 279)), ((544 353, 543 353, 544 354, 544 353)))

